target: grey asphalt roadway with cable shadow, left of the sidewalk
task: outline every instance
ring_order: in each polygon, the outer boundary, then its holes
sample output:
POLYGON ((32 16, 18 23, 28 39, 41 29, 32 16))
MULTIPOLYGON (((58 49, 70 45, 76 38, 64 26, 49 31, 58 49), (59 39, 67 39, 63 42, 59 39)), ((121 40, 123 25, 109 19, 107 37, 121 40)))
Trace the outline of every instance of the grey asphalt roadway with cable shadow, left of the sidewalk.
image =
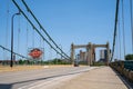
POLYGON ((93 68, 64 67, 29 71, 1 72, 0 89, 49 89, 55 83, 71 79, 93 68))

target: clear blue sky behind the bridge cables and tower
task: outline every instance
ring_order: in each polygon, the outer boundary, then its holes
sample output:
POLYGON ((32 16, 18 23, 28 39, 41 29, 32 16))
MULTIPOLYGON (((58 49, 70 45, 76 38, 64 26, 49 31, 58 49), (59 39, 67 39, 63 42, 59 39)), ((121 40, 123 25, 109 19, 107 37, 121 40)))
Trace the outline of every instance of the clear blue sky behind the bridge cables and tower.
MULTIPOLYGON (((21 0, 16 0, 23 8, 21 0)), ((110 42, 112 49, 113 30, 114 30, 114 14, 116 0, 25 0, 35 17, 42 23, 44 29, 53 38, 53 40, 62 46, 62 49, 70 55, 70 46, 110 42)), ((126 53, 131 53, 131 29, 130 29, 130 13, 129 0, 124 0, 125 14, 125 37, 126 37, 126 53)), ((17 7, 11 0, 0 0, 0 44, 10 49, 10 26, 11 16, 18 12, 17 7), (9 14, 7 14, 9 6, 9 14), (8 20, 7 20, 8 19, 8 20), (8 23, 7 23, 8 21, 8 23), (7 28, 8 26, 8 28, 7 28), (9 32, 6 32, 6 31, 9 32), (8 42, 6 43, 6 40, 8 42)), ((120 14, 121 16, 121 14, 120 14)), ((31 18, 31 17, 30 17, 31 18)), ((33 21, 34 22, 34 21, 33 21)), ((32 48, 32 28, 28 24, 29 43, 28 48, 32 48)), ((28 52, 25 48, 27 36, 27 20, 23 16, 14 19, 14 50, 24 55, 28 52), (19 19, 20 18, 20 19, 19 19), (19 23, 20 20, 20 23, 19 23), (18 29, 20 24, 20 44, 18 48, 18 29)), ((34 33, 35 36, 37 33, 34 33)), ((39 37, 34 37, 34 47, 39 47, 39 37)), ((43 47, 43 46, 42 46, 43 47)), ((123 48, 123 47, 122 47, 123 48)), ((55 57, 55 52, 50 56, 50 48, 44 44, 45 59, 55 57)), ((98 50, 99 51, 99 50, 98 50)), ((123 51, 123 49, 122 49, 123 51)), ((78 52, 78 51, 76 51, 78 52)), ((7 53, 10 58, 10 55, 7 53)), ((4 57, 3 50, 0 49, 0 59, 4 57)), ((99 58, 99 52, 96 55, 99 58)), ((116 57, 116 56, 115 56, 116 57)))

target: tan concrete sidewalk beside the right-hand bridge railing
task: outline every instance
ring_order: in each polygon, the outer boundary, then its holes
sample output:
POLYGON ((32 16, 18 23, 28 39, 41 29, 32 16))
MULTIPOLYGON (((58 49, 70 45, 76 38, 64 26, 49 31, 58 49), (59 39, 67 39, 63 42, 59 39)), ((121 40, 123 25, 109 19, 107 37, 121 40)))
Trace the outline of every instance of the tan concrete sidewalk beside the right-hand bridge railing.
POLYGON ((80 75, 58 89, 127 89, 110 67, 100 67, 80 75))

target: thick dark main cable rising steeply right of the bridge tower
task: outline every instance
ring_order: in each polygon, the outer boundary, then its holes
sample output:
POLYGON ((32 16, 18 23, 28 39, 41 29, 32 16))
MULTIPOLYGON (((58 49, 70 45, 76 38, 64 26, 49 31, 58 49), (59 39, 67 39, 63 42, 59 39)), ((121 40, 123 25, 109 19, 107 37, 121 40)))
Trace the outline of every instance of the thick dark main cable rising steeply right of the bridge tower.
POLYGON ((119 13, 119 2, 120 2, 120 0, 116 0, 115 21, 114 21, 114 36, 113 36, 113 47, 112 47, 111 61, 112 61, 113 56, 114 56, 114 47, 115 47, 115 38, 116 38, 116 24, 117 24, 117 13, 119 13))

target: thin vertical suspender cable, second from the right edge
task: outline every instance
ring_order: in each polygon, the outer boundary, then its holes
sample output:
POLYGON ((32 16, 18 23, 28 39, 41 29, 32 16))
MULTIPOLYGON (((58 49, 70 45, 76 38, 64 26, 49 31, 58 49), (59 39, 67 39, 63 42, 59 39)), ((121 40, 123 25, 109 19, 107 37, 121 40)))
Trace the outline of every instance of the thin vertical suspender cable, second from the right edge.
POLYGON ((125 29, 124 29, 124 3, 122 0, 122 29, 123 29, 123 48, 124 48, 124 58, 125 58, 125 29))

